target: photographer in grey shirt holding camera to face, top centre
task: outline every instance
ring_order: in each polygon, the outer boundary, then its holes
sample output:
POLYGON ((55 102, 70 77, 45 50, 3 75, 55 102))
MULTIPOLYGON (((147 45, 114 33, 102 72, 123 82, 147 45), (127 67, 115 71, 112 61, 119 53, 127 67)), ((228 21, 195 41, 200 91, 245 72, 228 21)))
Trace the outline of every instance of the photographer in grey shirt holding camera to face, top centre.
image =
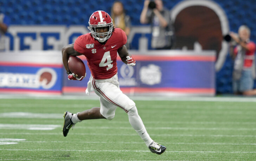
POLYGON ((161 0, 145 0, 140 15, 141 24, 151 24, 153 49, 171 49, 174 40, 174 28, 170 12, 163 7, 161 0))

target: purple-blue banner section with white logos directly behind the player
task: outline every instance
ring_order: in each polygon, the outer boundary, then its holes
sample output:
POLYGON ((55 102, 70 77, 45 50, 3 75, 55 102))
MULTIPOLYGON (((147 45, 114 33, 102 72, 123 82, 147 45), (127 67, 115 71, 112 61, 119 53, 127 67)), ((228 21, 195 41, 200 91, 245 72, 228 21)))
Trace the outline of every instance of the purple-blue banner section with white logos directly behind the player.
MULTIPOLYGON (((130 52, 136 66, 117 60, 118 80, 130 95, 215 95, 215 52, 156 51, 130 52)), ((63 80, 64 93, 85 92, 90 71, 84 56, 87 76, 82 81, 63 80)))

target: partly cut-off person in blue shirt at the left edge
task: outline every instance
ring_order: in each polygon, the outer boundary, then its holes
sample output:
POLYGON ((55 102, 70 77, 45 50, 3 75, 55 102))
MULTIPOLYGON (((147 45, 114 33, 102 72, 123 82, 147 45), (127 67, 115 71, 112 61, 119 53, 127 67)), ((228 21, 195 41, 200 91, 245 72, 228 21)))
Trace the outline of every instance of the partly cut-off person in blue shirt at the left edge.
POLYGON ((5 50, 5 33, 7 32, 10 20, 9 18, 0 13, 0 51, 5 50))

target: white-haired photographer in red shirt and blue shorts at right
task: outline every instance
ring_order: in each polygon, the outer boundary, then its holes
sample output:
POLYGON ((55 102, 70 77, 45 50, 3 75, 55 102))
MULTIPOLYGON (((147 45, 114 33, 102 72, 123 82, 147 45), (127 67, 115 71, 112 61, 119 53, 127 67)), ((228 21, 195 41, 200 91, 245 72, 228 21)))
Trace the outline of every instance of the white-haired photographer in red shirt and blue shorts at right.
POLYGON ((236 47, 231 45, 231 56, 235 59, 233 69, 233 92, 235 94, 256 95, 253 90, 255 79, 255 43, 250 41, 250 29, 242 25, 238 34, 230 32, 236 47), (235 49, 233 48, 235 47, 235 49))

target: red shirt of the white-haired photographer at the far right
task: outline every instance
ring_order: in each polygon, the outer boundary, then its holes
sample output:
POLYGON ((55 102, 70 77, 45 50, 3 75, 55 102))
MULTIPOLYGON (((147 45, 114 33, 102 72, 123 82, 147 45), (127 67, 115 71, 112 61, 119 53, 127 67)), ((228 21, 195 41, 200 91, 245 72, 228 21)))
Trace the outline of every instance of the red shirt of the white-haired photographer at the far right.
MULTIPOLYGON (((254 42, 249 42, 247 45, 247 48, 249 50, 247 50, 245 52, 245 57, 244 57, 244 68, 250 68, 252 66, 253 60, 254 60, 254 53, 255 53, 255 44, 254 42)), ((237 54, 238 49, 237 47, 235 47, 234 49, 234 53, 237 54)))

